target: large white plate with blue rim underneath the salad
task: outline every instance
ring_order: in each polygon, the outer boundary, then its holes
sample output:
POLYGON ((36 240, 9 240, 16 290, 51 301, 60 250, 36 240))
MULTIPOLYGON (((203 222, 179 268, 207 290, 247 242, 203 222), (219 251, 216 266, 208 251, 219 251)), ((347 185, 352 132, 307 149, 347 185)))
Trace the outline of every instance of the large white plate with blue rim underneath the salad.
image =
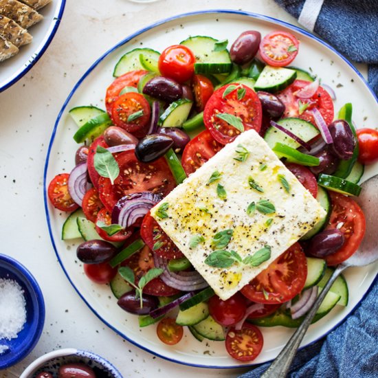
MULTIPOLYGON (((205 368, 234 368, 261 364, 278 355, 293 331, 282 326, 262 328, 263 351, 253 362, 242 363, 227 354, 224 342, 201 343, 195 340, 188 330, 185 331, 184 338, 179 344, 175 346, 162 344, 156 335, 154 325, 140 329, 137 316, 122 311, 115 298, 109 301, 109 293, 111 293, 109 287, 91 283, 82 274, 82 266, 75 261, 72 243, 67 245, 60 240, 62 225, 67 214, 55 210, 46 200, 46 188, 49 181, 56 174, 69 172, 74 168, 74 154, 78 145, 72 139, 76 126, 68 111, 73 107, 86 104, 104 109, 105 91, 113 80, 113 68, 122 54, 135 47, 142 45, 162 51, 169 45, 179 43, 193 35, 208 35, 219 40, 228 39, 232 43, 245 30, 258 30, 265 35, 278 29, 292 32, 300 40, 295 65, 317 74, 322 78, 322 82, 335 89, 336 111, 346 102, 352 102, 355 109, 353 115, 355 124, 358 127, 373 128, 374 120, 378 118, 377 98, 359 72, 335 49, 293 25, 267 16, 234 10, 209 10, 182 14, 159 21, 132 34, 91 65, 69 94, 56 120, 47 153, 44 179, 47 223, 60 265, 71 285, 98 318, 129 342, 172 362, 205 368), (71 253, 67 253, 67 249, 71 249, 71 253)), ((365 178, 375 173, 378 173, 378 166, 370 166, 366 169, 365 178)), ((377 276, 377 271, 378 265, 346 271, 345 276, 350 293, 348 306, 336 306, 325 318, 311 325, 302 345, 308 345, 320 339, 345 320, 366 295, 377 276)))

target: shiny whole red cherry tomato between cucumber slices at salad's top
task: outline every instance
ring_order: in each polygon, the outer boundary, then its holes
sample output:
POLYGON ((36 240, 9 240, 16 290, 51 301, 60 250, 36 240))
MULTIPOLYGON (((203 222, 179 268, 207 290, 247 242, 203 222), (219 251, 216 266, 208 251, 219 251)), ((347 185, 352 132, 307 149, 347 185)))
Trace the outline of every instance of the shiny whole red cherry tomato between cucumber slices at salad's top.
POLYGON ((192 51, 184 45, 167 47, 159 57, 158 67, 162 76, 185 82, 194 74, 196 58, 192 51))

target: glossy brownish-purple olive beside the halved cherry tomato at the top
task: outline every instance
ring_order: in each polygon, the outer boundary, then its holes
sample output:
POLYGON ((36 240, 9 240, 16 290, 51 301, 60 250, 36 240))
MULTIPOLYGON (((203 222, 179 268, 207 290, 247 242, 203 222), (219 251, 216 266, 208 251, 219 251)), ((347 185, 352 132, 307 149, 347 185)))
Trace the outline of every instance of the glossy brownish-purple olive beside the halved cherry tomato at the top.
POLYGON ((256 30, 247 30, 243 32, 236 41, 232 43, 230 49, 230 58, 237 65, 243 65, 244 63, 252 60, 258 52, 260 46, 261 34, 256 30))

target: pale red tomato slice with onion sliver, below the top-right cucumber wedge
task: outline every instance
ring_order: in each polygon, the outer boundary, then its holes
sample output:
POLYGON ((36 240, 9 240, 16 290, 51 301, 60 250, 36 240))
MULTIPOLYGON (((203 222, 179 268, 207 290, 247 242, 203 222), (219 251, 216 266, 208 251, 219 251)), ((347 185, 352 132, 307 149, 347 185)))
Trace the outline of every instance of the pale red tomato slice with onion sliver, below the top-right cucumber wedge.
POLYGON ((311 109, 318 109, 322 114, 326 124, 330 124, 333 121, 334 111, 333 111, 333 101, 329 93, 319 86, 318 91, 311 98, 298 98, 294 96, 294 92, 302 89, 309 85, 310 82, 306 80, 296 80, 289 87, 285 88, 283 91, 276 93, 276 96, 285 104, 285 113, 283 117, 296 117, 302 118, 315 124, 311 109), (302 108, 307 107, 304 111, 300 113, 300 104, 302 108), (303 105, 304 104, 304 105, 303 105))

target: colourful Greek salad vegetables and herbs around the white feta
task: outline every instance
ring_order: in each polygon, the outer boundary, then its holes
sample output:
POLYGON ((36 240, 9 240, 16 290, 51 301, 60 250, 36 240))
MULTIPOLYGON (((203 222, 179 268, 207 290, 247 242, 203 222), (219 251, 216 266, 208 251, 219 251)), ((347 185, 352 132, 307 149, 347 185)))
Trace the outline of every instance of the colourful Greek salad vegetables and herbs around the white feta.
MULTIPOLYGON (((84 239, 76 256, 89 280, 109 284, 120 308, 138 316, 140 327, 156 326, 165 344, 180 342, 188 326, 199 342, 225 342, 231 357, 252 361, 263 349, 259 327, 297 327, 333 266, 364 237, 364 214, 353 197, 364 164, 378 160, 378 132, 356 131, 352 104, 334 109, 333 89, 295 67, 297 54, 300 41, 280 30, 265 36, 247 30, 236 41, 190 36, 162 53, 136 48, 115 65, 104 88, 106 109, 80 104, 69 111, 78 126, 75 166, 56 175, 47 193, 57 210, 69 213, 62 238, 84 239), (278 198, 294 197, 299 181, 322 216, 247 285, 221 299, 160 220, 175 222, 179 214, 164 198, 204 172, 226 145, 236 140, 230 159, 247 162, 254 146, 237 141, 250 130, 289 172, 277 175, 278 198)), ((263 177, 271 167, 254 161, 252 168, 263 177)), ((214 198, 231 206, 221 181, 226 174, 214 170, 206 177, 202 184, 214 188, 214 198)), ((267 191, 269 179, 255 178, 248 178, 249 190, 267 191)), ((268 232, 279 216, 276 207, 270 199, 245 199, 245 216, 265 216, 262 232, 268 232)), ((186 215, 196 227, 190 249, 201 249, 208 219, 222 217, 210 206, 196 211, 192 219, 186 215)), ((291 226, 282 222, 282 232, 291 226)), ((216 229, 204 264, 227 275, 235 265, 258 267, 271 257, 267 243, 243 258, 243 251, 227 249, 235 238, 232 229, 216 229)), ((348 285, 340 276, 313 321, 347 304, 348 285)))

